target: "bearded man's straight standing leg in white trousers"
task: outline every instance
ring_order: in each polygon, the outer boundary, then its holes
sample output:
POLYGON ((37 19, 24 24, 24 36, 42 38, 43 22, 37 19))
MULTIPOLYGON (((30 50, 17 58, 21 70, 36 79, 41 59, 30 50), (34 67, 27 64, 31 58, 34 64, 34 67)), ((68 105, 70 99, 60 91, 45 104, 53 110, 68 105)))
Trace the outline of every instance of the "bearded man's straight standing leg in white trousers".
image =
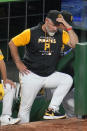
POLYGON ((21 104, 18 116, 20 123, 26 123, 30 120, 30 111, 32 104, 42 87, 42 77, 30 72, 28 75, 19 75, 21 83, 21 104))

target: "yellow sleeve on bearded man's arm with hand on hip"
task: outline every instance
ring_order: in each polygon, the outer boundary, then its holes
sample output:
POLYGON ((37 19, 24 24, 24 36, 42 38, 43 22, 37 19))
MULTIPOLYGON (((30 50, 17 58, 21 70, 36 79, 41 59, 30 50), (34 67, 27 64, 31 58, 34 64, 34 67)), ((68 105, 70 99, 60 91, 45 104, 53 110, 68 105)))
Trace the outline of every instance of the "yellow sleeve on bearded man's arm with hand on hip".
POLYGON ((15 46, 25 46, 29 44, 30 37, 31 37, 30 29, 26 29, 19 35, 12 38, 12 41, 15 44, 15 46))

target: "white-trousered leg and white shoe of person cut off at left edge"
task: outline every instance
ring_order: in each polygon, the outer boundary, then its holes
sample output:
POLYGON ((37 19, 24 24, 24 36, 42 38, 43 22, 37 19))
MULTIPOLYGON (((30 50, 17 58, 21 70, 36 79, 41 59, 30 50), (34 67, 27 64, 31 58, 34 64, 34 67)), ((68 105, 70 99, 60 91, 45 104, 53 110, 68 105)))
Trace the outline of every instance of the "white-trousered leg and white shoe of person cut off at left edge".
POLYGON ((1 125, 16 124, 20 121, 19 118, 11 117, 15 90, 16 89, 11 87, 9 84, 6 84, 6 88, 4 87, 5 95, 3 97, 2 114, 0 117, 1 125))

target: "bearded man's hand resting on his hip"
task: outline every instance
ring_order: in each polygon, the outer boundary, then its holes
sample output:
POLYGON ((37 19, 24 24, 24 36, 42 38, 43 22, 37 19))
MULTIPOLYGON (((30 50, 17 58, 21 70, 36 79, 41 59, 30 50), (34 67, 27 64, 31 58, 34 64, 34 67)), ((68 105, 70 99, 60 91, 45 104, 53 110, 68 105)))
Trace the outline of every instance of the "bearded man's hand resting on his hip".
POLYGON ((16 63, 16 66, 17 66, 19 72, 22 73, 22 75, 24 75, 24 74, 27 75, 27 74, 29 73, 29 70, 27 69, 27 67, 24 65, 23 62, 18 61, 18 62, 16 63))

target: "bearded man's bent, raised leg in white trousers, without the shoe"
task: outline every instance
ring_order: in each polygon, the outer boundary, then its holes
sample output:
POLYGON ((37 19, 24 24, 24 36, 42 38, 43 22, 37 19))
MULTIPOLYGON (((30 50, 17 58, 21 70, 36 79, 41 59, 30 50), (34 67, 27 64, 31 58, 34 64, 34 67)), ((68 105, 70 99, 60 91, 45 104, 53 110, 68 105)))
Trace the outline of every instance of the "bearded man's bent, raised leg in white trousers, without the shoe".
POLYGON ((59 106, 70 90, 72 83, 72 77, 65 73, 55 72, 47 77, 44 87, 55 88, 48 108, 53 109, 54 111, 59 110, 59 106))

